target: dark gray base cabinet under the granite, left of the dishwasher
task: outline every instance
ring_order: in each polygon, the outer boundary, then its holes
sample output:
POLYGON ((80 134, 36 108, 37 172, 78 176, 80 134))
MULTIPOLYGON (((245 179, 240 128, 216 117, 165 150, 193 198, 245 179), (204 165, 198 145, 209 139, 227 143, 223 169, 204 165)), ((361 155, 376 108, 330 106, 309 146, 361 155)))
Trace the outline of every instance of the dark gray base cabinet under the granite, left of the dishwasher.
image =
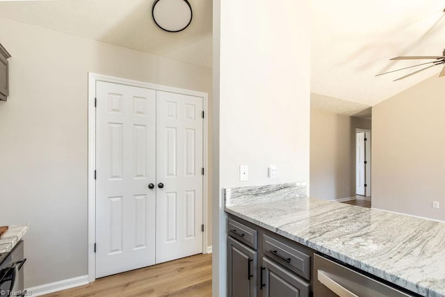
POLYGON ((314 251, 236 216, 227 219, 227 296, 309 297, 314 251))

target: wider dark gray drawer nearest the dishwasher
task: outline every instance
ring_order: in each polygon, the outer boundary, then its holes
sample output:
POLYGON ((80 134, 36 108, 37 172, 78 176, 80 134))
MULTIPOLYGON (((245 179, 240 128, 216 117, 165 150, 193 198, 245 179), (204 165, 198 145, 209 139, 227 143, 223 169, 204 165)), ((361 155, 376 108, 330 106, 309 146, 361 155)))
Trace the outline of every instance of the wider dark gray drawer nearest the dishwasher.
POLYGON ((277 241, 266 234, 263 235, 263 252, 271 259, 282 264, 306 280, 311 279, 311 256, 296 250, 286 243, 277 241))

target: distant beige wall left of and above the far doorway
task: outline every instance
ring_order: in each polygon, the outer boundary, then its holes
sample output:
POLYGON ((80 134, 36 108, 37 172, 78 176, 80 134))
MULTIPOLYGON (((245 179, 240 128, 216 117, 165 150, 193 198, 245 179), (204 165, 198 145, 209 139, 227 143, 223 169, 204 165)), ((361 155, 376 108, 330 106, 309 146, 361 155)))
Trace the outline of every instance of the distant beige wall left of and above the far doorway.
POLYGON ((356 128, 371 129, 371 120, 311 109, 312 197, 334 200, 355 196, 356 128))

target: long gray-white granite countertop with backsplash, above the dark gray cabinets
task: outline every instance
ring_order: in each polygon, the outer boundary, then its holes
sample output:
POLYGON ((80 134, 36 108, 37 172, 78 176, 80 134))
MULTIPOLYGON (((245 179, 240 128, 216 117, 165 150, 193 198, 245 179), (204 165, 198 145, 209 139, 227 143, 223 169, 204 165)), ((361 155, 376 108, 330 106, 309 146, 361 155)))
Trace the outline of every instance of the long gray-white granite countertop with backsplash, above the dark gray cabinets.
POLYGON ((266 188, 243 203, 231 202, 239 188, 226 191, 225 211, 422 296, 445 296, 445 223, 266 188))

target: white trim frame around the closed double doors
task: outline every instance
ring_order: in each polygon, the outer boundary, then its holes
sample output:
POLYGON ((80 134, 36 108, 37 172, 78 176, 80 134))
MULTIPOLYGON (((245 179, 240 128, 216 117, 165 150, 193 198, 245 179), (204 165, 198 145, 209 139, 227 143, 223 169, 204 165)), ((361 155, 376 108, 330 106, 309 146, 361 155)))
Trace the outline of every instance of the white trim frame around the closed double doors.
MULTIPOLYGON (((185 90, 181 88, 173 88, 169 86, 147 83, 144 81, 134 81, 131 79, 122 79, 119 77, 110 77, 108 75, 96 74, 88 72, 88 282, 96 280, 96 82, 104 81, 107 83, 118 83, 125 86, 133 86, 138 88, 149 88, 152 90, 161 90, 170 93, 178 93, 202 97, 202 108, 204 115, 208 115, 208 95, 207 93, 197 92, 193 90, 185 90)), ((202 127, 202 158, 203 166, 206 172, 202 181, 202 223, 204 224, 204 232, 202 234, 202 253, 207 254, 207 236, 209 230, 207 216, 207 200, 208 182, 209 182, 209 117, 204 116, 202 127)))

